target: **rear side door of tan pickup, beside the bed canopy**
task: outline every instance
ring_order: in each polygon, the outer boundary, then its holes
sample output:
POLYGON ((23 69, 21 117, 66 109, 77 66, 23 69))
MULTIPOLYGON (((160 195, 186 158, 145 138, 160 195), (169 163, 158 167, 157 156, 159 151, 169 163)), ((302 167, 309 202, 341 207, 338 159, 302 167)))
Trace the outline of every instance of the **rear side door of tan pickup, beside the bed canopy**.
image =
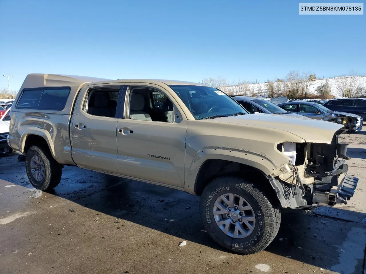
MULTIPOLYGON (((123 86, 122 86, 123 87, 123 86)), ((121 85, 88 85, 71 119, 71 155, 79 166, 117 173, 117 104, 121 85)))

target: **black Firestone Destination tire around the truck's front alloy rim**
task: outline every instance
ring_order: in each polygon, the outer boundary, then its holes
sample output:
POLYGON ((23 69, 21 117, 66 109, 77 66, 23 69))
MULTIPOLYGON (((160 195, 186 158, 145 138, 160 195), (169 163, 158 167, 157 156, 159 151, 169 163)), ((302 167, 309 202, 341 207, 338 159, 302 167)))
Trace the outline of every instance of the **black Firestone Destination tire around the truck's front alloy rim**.
MULTIPOLYGON (((263 182, 258 182, 258 184, 263 182)), ((269 185, 267 185, 269 186, 269 185)), ((221 176, 213 179, 203 190, 200 203, 203 227, 216 243, 240 254, 254 254, 264 250, 276 237, 280 228, 279 203, 266 195, 264 187, 235 176, 221 176), (226 235, 213 216, 213 206, 220 195, 233 193, 244 198, 255 212, 253 232, 236 239, 226 235)))

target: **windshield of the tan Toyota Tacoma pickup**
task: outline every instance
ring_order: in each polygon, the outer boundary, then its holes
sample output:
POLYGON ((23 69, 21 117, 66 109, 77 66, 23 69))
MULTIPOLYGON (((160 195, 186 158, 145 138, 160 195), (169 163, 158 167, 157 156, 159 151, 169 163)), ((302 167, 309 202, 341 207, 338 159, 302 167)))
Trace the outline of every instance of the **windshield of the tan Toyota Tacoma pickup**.
POLYGON ((213 87, 170 85, 195 119, 227 117, 248 112, 234 99, 213 87))

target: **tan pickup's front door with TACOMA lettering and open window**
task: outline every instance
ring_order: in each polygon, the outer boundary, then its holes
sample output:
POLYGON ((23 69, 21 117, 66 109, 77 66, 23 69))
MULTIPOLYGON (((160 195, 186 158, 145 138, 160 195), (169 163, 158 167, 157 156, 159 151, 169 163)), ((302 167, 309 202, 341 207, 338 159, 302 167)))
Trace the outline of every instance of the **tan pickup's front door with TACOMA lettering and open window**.
POLYGON ((119 174, 184 186, 187 120, 167 90, 130 85, 123 117, 117 122, 119 174))

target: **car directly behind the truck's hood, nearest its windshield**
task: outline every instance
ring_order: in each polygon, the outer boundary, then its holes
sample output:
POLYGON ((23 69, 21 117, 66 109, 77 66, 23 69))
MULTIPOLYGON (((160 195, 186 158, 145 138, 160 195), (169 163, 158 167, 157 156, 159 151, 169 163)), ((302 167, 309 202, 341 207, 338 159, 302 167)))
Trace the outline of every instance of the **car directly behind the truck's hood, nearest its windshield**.
POLYGON ((290 111, 285 111, 281 109, 279 106, 268 102, 262 98, 250 97, 250 96, 235 96, 232 95, 232 98, 239 104, 241 104, 244 109, 246 109, 249 113, 268 113, 268 114, 285 114, 290 116, 303 117, 303 115, 299 115, 296 113, 291 113, 290 111))

